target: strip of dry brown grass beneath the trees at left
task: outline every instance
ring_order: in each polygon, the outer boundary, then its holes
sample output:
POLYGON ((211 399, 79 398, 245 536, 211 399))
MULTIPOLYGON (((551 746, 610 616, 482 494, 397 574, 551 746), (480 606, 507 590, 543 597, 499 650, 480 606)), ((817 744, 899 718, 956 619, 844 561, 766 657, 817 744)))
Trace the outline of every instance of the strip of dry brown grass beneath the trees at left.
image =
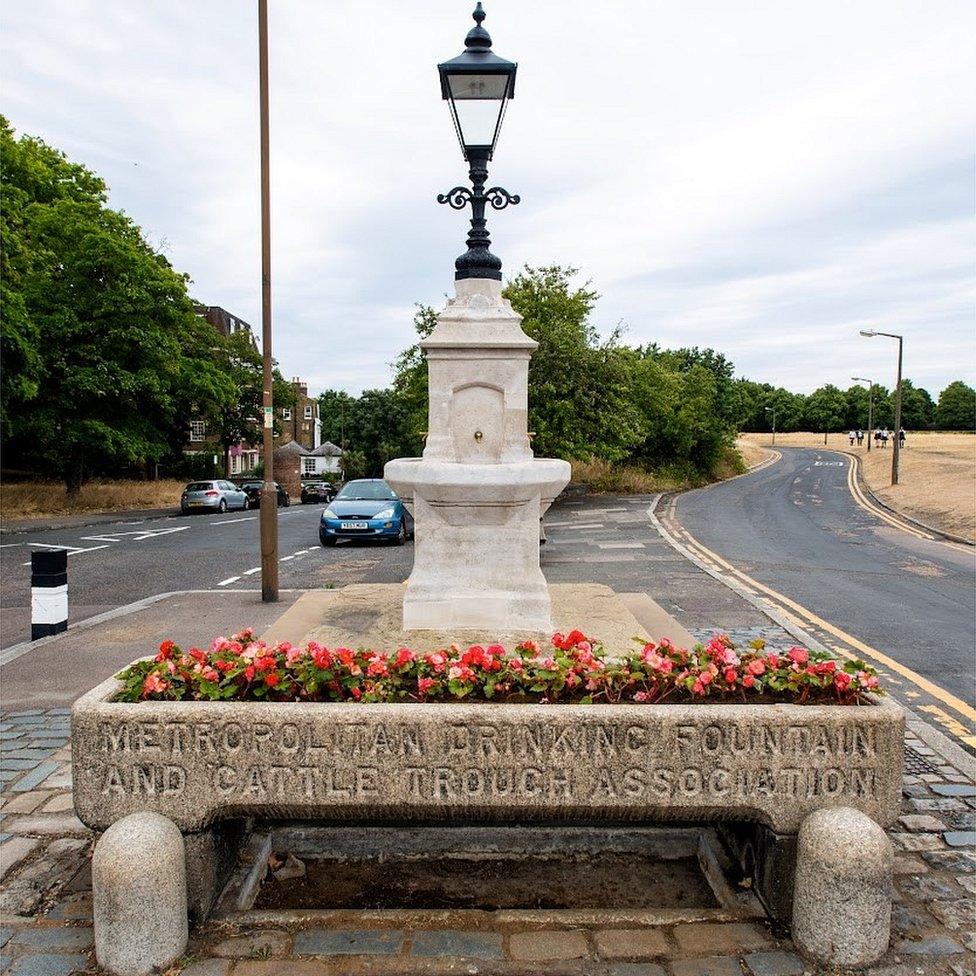
POLYGON ((184 481, 111 481, 83 485, 69 498, 64 483, 31 481, 0 485, 0 517, 29 519, 138 508, 178 508, 184 481))

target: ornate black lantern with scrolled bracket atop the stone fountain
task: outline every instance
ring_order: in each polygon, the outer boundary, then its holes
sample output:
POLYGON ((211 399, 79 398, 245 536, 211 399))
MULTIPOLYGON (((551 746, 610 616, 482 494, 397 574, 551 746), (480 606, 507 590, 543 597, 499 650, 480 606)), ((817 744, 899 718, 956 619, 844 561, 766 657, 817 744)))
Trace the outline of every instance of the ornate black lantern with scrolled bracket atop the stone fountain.
POLYGON ((472 14, 475 26, 464 39, 464 53, 437 66, 441 78, 441 96, 451 109, 461 151, 468 161, 471 189, 456 186, 437 197, 438 203, 463 210, 471 204, 471 230, 468 250, 455 262, 454 277, 494 278, 501 281, 502 262, 491 253, 491 238, 485 221, 485 204, 504 210, 519 202, 519 197, 500 186, 485 189, 488 161, 495 152, 505 106, 515 94, 515 71, 512 61, 498 57, 491 50, 491 37, 481 26, 485 12, 481 4, 472 14))

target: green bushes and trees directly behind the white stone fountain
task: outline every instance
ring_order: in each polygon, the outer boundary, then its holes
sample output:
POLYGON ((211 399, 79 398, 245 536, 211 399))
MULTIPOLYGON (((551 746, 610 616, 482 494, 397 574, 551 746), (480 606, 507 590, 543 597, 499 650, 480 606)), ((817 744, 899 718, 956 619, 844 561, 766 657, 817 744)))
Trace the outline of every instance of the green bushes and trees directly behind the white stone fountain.
MULTIPOLYGON (((619 330, 601 339, 590 322, 598 296, 575 276, 572 268, 527 267, 503 292, 539 343, 529 365, 535 453, 710 476, 732 444, 723 406, 731 363, 710 349, 634 349, 621 343, 619 330)), ((329 390, 319 398, 324 436, 342 444, 344 433, 367 475, 423 451, 427 368, 419 343, 436 324, 437 313, 418 305, 418 342, 393 363, 388 390, 358 398, 329 390)))

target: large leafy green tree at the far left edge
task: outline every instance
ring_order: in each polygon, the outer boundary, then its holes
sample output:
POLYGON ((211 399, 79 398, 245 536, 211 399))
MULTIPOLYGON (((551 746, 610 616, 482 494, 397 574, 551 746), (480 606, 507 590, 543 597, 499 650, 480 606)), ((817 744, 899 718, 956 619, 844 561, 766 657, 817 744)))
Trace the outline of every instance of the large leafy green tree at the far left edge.
POLYGON ((236 390, 186 276, 106 206, 105 184, 6 122, 0 137, 5 439, 74 493, 92 467, 159 460, 187 404, 210 411, 236 390))

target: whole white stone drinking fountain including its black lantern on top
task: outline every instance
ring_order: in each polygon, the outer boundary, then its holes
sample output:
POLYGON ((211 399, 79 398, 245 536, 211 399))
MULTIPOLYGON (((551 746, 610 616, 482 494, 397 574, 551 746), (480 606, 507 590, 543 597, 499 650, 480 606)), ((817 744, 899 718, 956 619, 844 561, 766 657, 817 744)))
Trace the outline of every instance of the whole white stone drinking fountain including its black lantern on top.
POLYGON ((412 508, 414 568, 403 599, 404 630, 484 628, 551 631, 539 568, 539 520, 566 486, 566 461, 536 458, 528 433, 529 357, 537 343, 502 297, 501 261, 489 250, 485 206, 519 202, 485 190, 516 65, 491 50, 479 3, 459 57, 438 65, 471 189, 438 197, 471 204, 468 250, 455 262, 456 297, 421 342, 430 416, 423 457, 390 461, 384 477, 412 508))

